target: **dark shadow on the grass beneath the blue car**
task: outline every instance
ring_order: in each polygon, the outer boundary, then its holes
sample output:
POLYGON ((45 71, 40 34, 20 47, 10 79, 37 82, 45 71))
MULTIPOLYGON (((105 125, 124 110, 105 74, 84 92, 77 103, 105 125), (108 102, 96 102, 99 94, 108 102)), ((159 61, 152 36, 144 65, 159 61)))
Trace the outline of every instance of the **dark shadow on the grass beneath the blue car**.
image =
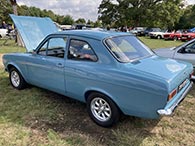
POLYGON ((144 120, 123 115, 117 125, 111 128, 103 128, 90 119, 85 103, 44 89, 32 88, 41 92, 43 95, 41 98, 50 104, 48 106, 54 107, 54 112, 49 118, 47 116, 34 116, 26 119, 26 126, 32 129, 45 132, 52 129, 62 135, 74 133, 85 135, 101 145, 114 146, 129 143, 139 145, 143 139, 152 134, 150 131, 159 122, 159 120, 144 120))

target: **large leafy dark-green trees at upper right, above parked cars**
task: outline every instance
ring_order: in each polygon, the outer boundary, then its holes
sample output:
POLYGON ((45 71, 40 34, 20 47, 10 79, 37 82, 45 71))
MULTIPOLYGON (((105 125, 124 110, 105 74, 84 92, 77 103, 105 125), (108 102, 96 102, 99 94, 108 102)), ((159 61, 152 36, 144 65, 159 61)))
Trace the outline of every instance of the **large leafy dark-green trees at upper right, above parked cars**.
POLYGON ((186 0, 102 0, 98 13, 103 25, 111 27, 195 27, 195 5, 186 0))

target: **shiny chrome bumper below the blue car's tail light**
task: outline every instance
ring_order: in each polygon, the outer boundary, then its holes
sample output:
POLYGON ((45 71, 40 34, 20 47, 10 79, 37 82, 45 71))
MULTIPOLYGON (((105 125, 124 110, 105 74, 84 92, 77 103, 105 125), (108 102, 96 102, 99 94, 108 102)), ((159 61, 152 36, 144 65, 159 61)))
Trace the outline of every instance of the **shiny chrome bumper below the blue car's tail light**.
MULTIPOLYGON (((195 79, 195 78, 194 78, 195 79)), ((179 103, 186 97, 190 89, 192 88, 193 82, 190 82, 189 85, 184 89, 185 91, 181 94, 180 98, 177 99, 171 105, 167 105, 164 109, 157 110, 157 113, 161 116, 170 116, 174 109, 179 105, 179 103)))

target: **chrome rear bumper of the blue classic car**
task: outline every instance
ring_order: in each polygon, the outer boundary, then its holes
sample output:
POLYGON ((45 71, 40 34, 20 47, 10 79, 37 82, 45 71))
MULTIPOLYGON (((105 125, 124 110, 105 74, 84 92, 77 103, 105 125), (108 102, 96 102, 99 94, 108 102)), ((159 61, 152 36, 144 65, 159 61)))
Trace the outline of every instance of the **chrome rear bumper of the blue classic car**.
POLYGON ((169 102, 164 109, 157 110, 157 113, 161 116, 170 116, 174 112, 175 108, 179 103, 186 97, 190 89, 192 88, 193 82, 189 82, 186 87, 184 87, 178 95, 169 102))

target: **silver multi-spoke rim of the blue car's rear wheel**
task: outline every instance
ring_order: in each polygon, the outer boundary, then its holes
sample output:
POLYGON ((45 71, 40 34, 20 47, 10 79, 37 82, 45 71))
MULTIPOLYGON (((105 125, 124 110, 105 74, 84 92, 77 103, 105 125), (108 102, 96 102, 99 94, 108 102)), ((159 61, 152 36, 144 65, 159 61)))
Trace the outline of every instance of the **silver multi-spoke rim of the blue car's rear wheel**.
POLYGON ((101 122, 108 121, 112 116, 110 105, 100 97, 94 98, 90 107, 93 116, 101 122))

